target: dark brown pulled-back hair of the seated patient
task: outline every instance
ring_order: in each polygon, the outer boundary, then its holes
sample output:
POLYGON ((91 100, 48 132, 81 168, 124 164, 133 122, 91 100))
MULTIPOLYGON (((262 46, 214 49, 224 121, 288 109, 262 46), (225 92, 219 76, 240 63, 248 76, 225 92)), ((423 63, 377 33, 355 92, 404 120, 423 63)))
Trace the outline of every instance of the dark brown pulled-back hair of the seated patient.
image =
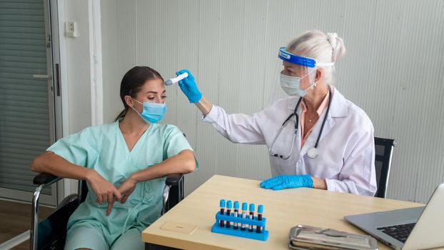
POLYGON ((161 79, 163 81, 161 74, 158 74, 158 71, 155 71, 148 66, 135 66, 133 69, 126 72, 120 84, 120 98, 122 99, 125 109, 118 114, 116 121, 123 118, 129 109, 129 106, 126 105, 125 96, 131 96, 134 98, 138 91, 141 90, 143 84, 145 84, 146 81, 153 79, 161 79))

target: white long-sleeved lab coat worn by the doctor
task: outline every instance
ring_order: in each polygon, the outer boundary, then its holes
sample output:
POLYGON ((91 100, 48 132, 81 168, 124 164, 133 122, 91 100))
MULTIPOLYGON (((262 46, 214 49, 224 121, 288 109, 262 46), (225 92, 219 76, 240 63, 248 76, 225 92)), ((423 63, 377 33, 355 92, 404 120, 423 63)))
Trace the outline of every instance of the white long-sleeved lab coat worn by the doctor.
MULTIPOLYGON (((293 113, 298 97, 276 101, 253 116, 226 114, 213 105, 203 121, 211 123, 226 139, 241 144, 266 144, 270 149, 283 121, 293 113)), ((316 144, 326 110, 301 149, 301 126, 293 145, 293 154, 284 160, 270 156, 271 174, 310 174, 326 179, 327 189, 351 194, 373 196, 376 192, 375 144, 373 124, 365 112, 333 91, 331 108, 318 144, 319 155, 307 156, 308 149, 316 144)), ((301 108, 298 108, 301 114, 301 108)), ((293 121, 296 118, 292 117, 293 121)), ((293 141, 294 122, 290 122, 278 136, 272 153, 287 156, 293 141)))

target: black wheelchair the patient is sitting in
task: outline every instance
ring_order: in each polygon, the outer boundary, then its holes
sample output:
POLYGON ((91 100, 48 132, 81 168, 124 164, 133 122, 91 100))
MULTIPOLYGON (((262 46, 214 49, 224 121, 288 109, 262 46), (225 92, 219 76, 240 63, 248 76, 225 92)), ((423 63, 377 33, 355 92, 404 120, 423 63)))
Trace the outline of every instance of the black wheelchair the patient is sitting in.
MULTIPOLYGON (((79 204, 85 201, 88 194, 86 181, 79 181, 78 194, 67 196, 56 211, 48 218, 39 222, 39 196, 41 190, 51 184, 60 181, 61 177, 52 174, 39 174, 34 177, 34 184, 39 185, 34 191, 32 200, 30 249, 64 249, 66 240, 66 224, 69 216, 77 209, 79 204)), ((166 176, 165 188, 163 189, 162 214, 178 204, 183 199, 183 174, 169 174, 166 176)))

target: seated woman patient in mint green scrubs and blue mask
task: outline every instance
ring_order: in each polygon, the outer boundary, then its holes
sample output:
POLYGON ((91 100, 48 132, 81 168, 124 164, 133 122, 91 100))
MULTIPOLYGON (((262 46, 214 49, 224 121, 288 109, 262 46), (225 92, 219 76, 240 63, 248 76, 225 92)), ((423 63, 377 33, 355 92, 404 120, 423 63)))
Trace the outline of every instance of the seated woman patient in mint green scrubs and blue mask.
POLYGON ((161 214, 162 177, 196 168, 181 131, 156 123, 165 94, 157 71, 130 69, 116 122, 60 139, 32 162, 33 171, 88 183, 86 201, 69 218, 65 249, 143 249, 141 231, 161 214))

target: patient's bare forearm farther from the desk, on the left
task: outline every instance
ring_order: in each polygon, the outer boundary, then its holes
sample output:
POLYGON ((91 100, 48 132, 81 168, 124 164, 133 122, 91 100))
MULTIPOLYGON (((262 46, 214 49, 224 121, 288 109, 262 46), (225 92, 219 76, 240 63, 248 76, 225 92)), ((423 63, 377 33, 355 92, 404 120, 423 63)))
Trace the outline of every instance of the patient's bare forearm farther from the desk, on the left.
POLYGON ((63 157, 46 151, 31 162, 31 170, 39 173, 54 174, 62 178, 85 180, 91 175, 91 169, 77 166, 63 157))

